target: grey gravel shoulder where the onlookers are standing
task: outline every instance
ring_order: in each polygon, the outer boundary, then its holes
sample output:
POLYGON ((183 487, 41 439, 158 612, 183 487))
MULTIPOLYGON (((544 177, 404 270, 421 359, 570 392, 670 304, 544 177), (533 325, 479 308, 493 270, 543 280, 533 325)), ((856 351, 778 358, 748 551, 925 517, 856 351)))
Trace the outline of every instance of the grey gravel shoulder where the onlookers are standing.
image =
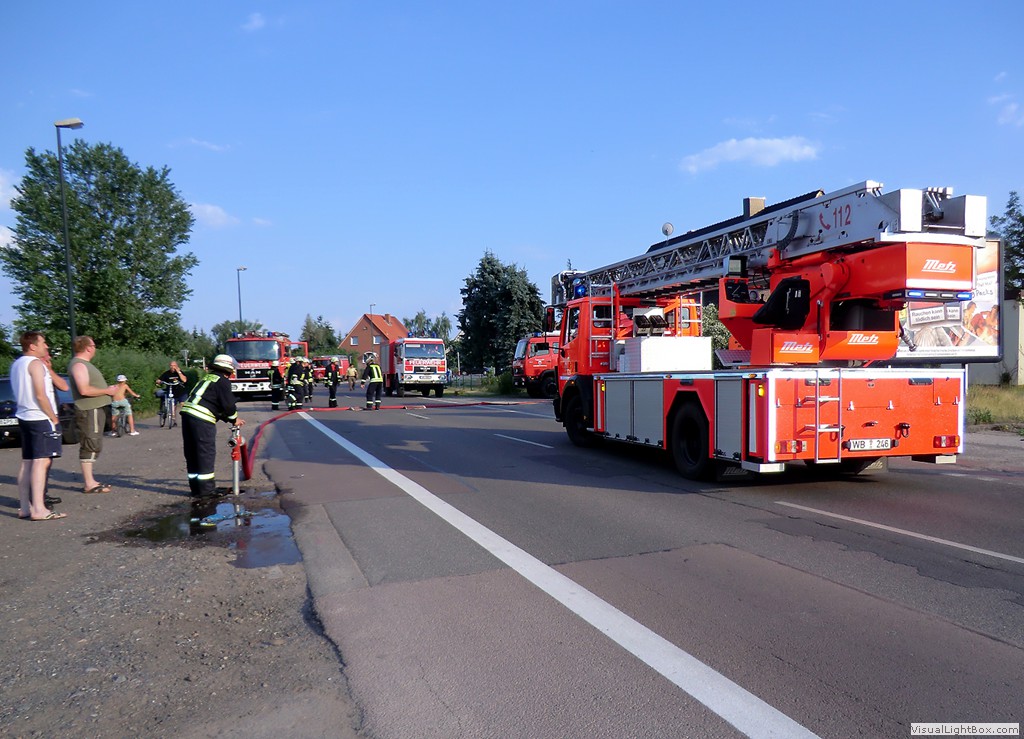
MULTIPOLYGON (((247 435, 270 417, 256 405, 240 406, 247 435)), ((287 527, 262 558, 251 556, 268 536, 253 533, 257 517, 181 539, 125 536, 187 526, 180 433, 137 426, 139 436, 103 439, 96 476, 109 494, 81 493, 78 446, 65 447, 50 473, 60 521, 18 520, 20 450, 0 449, 0 735, 357 736, 287 527)), ((242 489, 247 508, 283 519, 261 469, 242 489)))

